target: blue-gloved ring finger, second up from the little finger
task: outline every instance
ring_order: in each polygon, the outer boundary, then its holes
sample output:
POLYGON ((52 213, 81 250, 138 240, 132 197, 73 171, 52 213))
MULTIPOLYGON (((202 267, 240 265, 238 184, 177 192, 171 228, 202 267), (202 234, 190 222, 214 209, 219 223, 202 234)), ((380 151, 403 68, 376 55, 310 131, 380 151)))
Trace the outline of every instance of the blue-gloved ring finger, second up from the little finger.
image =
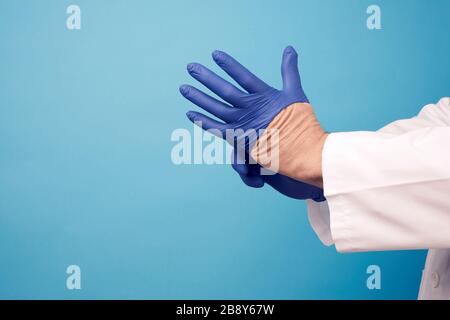
POLYGON ((186 99, 219 119, 222 119, 225 122, 230 122, 232 120, 234 110, 231 106, 214 99, 197 88, 189 85, 182 85, 180 87, 180 93, 186 99))

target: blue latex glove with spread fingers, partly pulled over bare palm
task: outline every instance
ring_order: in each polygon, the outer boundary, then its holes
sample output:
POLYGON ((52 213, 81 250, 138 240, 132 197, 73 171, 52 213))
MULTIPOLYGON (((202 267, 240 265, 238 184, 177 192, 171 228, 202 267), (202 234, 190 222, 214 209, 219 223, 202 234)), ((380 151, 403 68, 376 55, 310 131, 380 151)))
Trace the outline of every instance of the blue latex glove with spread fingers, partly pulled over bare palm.
MULTIPOLYGON (((257 133, 255 136, 234 137, 241 143, 240 145, 245 145, 247 153, 258 138, 260 130, 266 129, 281 110, 295 102, 308 102, 300 82, 297 52, 291 46, 283 52, 282 90, 267 85, 224 52, 214 51, 212 57, 247 92, 238 89, 201 64, 190 63, 187 66, 189 74, 229 104, 190 85, 182 85, 180 92, 186 99, 223 120, 224 123, 195 111, 189 111, 186 115, 192 122, 201 123, 204 130, 215 129, 223 138, 226 138, 227 129, 234 130, 234 132, 237 132, 236 129, 242 129, 244 132, 249 129, 255 130, 257 133), (244 143, 242 143, 242 139, 246 139, 244 143)), ((234 143, 234 141, 229 142, 234 143)))

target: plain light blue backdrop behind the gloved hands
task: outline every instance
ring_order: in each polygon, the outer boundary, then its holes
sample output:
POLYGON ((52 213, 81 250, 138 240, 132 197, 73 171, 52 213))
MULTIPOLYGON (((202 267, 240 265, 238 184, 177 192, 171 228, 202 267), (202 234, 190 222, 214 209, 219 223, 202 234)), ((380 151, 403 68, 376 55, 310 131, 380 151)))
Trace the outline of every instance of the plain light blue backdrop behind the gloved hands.
POLYGON ((175 166, 191 61, 227 51, 280 85, 283 48, 330 131, 448 96, 450 3, 0 2, 0 298, 415 299, 424 251, 339 254, 302 201, 228 166, 175 166), (382 30, 366 9, 382 10, 382 30), (66 289, 66 268, 82 290, 66 289), (382 269, 382 290, 366 268, 382 269))

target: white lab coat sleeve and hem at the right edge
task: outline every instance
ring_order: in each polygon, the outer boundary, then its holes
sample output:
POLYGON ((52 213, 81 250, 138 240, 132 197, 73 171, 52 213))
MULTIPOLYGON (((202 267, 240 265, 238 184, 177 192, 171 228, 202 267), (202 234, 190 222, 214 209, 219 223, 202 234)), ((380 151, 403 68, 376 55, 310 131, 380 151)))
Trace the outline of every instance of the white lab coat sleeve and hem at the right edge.
POLYGON ((450 98, 377 132, 332 133, 314 231, 339 252, 430 249, 420 299, 450 299, 450 98))

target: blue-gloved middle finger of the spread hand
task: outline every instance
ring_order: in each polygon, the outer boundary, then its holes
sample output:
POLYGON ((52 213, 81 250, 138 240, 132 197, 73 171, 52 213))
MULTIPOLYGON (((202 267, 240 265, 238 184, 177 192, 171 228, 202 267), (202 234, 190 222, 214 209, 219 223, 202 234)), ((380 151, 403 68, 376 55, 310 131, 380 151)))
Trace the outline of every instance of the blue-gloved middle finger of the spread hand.
POLYGON ((234 106, 239 106, 243 97, 247 95, 199 63, 188 64, 187 70, 192 77, 234 106))

